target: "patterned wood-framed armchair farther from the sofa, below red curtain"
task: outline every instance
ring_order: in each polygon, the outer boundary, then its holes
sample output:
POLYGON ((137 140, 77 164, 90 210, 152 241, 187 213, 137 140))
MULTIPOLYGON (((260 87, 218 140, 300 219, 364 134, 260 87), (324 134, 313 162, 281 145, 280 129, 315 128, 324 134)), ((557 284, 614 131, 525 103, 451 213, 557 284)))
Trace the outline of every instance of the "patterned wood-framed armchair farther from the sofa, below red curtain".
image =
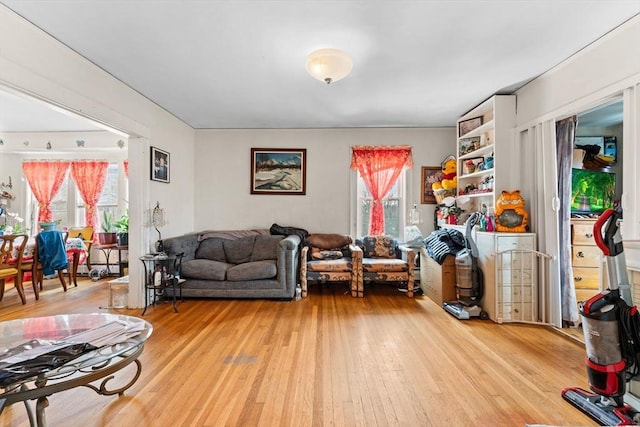
POLYGON ((389 236, 364 236, 356 245, 362 249, 363 283, 400 282, 407 285, 407 296, 413 297, 416 254, 411 248, 389 236))

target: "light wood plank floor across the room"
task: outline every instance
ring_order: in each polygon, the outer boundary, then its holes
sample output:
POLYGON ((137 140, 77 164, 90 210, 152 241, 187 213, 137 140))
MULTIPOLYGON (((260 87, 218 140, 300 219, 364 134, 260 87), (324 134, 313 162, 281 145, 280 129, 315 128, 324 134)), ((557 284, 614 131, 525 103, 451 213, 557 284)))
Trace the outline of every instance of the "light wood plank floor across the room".
MULTIPOLYGON (((14 289, 0 320, 100 311, 107 286, 14 289)), ((596 425, 561 396, 587 387, 584 349, 545 327, 459 321, 426 297, 310 286, 302 301, 187 300, 152 307, 138 382, 122 397, 50 398, 50 426, 596 425)), ((139 316, 141 310, 118 310, 139 316)), ((118 374, 120 378, 122 374, 118 374)), ((0 426, 26 426, 24 406, 0 426)))

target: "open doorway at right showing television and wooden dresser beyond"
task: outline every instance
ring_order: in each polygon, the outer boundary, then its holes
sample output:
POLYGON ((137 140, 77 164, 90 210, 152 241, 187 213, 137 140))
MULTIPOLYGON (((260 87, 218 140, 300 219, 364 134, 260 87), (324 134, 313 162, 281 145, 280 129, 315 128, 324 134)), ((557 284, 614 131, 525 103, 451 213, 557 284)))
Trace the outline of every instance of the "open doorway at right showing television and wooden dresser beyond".
MULTIPOLYGON (((564 300, 567 293, 561 293, 563 310, 566 310, 566 304, 573 303, 578 308, 582 302, 608 287, 606 263, 596 246, 593 227, 605 209, 620 203, 623 153, 621 97, 577 114, 571 159, 571 194, 559 194, 561 200, 570 200, 570 220, 565 225, 571 230, 570 239, 562 243, 570 246, 567 253, 571 254, 571 260, 560 266, 561 269, 570 269, 571 283, 561 283, 561 286, 572 286, 575 291, 575 301, 564 300)), ((566 279, 566 275, 561 275, 561 281, 566 279)), ((563 322, 563 329, 581 341, 584 339, 580 320, 577 324, 563 322)))

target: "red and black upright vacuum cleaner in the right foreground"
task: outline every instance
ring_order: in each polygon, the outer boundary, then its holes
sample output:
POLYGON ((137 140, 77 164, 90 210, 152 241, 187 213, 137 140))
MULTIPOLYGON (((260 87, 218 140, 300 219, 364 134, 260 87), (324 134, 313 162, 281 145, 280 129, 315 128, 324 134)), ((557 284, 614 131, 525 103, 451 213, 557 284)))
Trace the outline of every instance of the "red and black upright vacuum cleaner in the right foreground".
POLYGON ((607 261, 609 289, 580 307, 592 392, 577 387, 562 390, 566 401, 607 426, 640 423, 640 412, 624 403, 627 382, 640 371, 640 315, 631 301, 620 218, 621 211, 608 209, 594 224, 596 244, 607 261))

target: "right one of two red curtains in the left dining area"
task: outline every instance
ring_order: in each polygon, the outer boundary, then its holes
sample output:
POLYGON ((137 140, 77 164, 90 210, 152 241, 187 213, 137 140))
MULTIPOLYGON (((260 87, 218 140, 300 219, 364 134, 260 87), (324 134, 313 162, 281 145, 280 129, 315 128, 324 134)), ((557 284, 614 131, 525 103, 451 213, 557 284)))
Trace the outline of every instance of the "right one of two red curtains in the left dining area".
MULTIPOLYGON (((71 176, 84 201, 84 220, 87 227, 96 228, 96 205, 107 179, 109 163, 104 160, 84 160, 71 163, 71 176)), ((95 235, 95 234, 94 234, 95 235)))

